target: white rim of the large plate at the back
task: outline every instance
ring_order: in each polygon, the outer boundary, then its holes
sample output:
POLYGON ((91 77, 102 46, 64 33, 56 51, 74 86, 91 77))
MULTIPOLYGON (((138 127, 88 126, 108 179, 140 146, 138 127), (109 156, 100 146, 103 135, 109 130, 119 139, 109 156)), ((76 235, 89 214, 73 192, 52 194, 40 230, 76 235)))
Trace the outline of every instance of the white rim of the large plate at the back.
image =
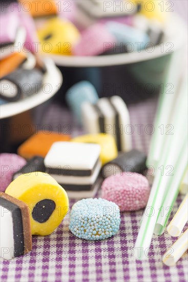
POLYGON ((65 67, 105 67, 126 65, 147 61, 166 54, 173 53, 185 44, 186 26, 180 16, 174 13, 164 27, 164 42, 155 46, 152 52, 141 50, 139 52, 123 53, 101 56, 64 56, 45 55, 52 58, 57 66, 65 67))

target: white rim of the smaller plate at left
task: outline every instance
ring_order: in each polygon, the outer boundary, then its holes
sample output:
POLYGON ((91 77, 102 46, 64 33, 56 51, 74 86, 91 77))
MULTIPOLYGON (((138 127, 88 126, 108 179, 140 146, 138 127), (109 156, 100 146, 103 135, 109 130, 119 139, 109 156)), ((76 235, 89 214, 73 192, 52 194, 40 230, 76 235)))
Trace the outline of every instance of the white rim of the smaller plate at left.
POLYGON ((62 85, 62 75, 51 59, 44 60, 47 71, 43 79, 43 87, 30 97, 18 102, 1 105, 0 118, 7 118, 28 111, 50 99, 62 85))

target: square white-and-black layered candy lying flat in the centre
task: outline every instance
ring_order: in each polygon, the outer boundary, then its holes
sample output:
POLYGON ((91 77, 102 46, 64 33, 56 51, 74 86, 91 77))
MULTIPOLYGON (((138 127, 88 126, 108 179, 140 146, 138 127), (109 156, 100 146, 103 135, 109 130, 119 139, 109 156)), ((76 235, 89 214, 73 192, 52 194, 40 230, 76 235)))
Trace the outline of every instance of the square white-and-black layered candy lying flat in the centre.
POLYGON ((100 182, 100 150, 98 144, 55 142, 44 160, 46 172, 69 197, 90 197, 100 182))

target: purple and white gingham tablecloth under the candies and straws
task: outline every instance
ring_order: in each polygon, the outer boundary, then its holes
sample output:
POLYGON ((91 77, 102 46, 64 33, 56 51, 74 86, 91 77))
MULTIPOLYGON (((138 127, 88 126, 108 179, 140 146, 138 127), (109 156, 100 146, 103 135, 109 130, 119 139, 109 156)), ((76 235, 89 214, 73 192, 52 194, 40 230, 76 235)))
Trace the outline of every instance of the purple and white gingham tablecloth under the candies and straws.
MULTIPOLYGON (((132 135, 133 145, 145 152, 151 135, 145 133, 144 127, 153 123, 155 108, 156 100, 129 107, 132 125, 143 124, 140 134, 135 130, 132 135)), ((54 123, 54 127, 57 123, 65 124, 66 118, 69 118, 64 113, 66 116, 62 114, 59 105, 51 106, 44 117, 44 123, 54 123)), ((73 130, 75 133, 75 128, 73 130)), ((181 200, 182 196, 179 196, 171 218, 181 200)), ((74 202, 71 200, 70 206, 74 202)), ((50 236, 33 236, 32 252, 10 261, 1 260, 1 281, 187 281, 187 252, 174 267, 167 267, 162 263, 164 252, 176 240, 166 231, 161 236, 153 236, 150 252, 145 260, 139 261, 133 257, 142 213, 143 210, 121 213, 118 234, 95 242, 78 239, 69 231, 68 213, 50 236)))

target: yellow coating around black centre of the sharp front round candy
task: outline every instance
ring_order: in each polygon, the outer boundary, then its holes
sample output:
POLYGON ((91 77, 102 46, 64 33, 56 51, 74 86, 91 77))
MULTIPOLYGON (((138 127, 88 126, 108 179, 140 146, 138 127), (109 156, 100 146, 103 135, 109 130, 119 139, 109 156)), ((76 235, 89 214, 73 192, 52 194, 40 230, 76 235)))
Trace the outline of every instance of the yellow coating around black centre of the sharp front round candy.
POLYGON ((22 200, 29 206, 32 235, 49 235, 61 223, 69 210, 69 199, 66 191, 47 173, 32 172, 20 175, 7 187, 5 193, 22 200), (35 205, 44 199, 55 202, 55 210, 44 223, 32 217, 35 205))

